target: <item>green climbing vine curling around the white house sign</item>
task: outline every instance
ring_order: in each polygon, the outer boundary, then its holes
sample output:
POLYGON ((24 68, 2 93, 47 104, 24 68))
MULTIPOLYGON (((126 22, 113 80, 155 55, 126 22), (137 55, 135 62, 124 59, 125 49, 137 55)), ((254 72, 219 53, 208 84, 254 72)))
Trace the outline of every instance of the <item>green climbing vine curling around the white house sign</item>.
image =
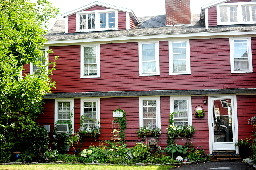
POLYGON ((120 132, 119 132, 119 136, 122 140, 120 140, 120 144, 124 144, 124 142, 126 142, 125 140, 125 129, 126 129, 126 124, 127 124, 127 120, 126 120, 126 113, 124 110, 121 110, 120 108, 113 110, 112 113, 119 111, 123 113, 123 117, 117 117, 114 119, 115 123, 119 123, 120 126, 120 132))

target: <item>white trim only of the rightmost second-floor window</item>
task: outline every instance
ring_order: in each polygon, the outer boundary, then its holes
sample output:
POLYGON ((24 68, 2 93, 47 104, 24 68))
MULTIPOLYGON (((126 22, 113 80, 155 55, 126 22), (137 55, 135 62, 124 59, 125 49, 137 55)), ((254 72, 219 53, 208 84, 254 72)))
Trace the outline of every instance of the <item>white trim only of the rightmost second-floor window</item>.
POLYGON ((251 52, 251 37, 245 38, 230 38, 229 39, 229 47, 230 47, 230 66, 231 66, 231 73, 252 73, 252 52, 251 52), (248 47, 248 58, 249 58, 249 70, 235 70, 235 63, 234 63, 234 40, 247 40, 247 47, 248 47))

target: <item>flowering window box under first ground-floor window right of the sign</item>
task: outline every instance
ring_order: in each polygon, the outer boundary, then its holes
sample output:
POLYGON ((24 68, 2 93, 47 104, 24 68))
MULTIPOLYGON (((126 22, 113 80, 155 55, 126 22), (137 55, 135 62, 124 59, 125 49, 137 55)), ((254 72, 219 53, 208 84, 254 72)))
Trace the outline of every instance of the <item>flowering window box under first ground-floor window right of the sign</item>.
POLYGON ((153 127, 146 127, 142 126, 139 130, 136 131, 139 138, 146 137, 146 136, 154 136, 157 137, 158 135, 161 135, 160 133, 161 129, 158 126, 153 127))

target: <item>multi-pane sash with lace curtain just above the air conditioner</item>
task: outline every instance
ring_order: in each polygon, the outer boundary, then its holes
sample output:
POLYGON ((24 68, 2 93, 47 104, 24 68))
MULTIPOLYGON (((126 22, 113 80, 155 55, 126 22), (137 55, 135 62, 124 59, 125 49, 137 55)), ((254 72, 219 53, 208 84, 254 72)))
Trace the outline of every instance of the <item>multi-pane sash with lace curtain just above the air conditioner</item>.
POLYGON ((69 120, 70 119, 70 102, 58 102, 58 119, 57 120, 69 120))

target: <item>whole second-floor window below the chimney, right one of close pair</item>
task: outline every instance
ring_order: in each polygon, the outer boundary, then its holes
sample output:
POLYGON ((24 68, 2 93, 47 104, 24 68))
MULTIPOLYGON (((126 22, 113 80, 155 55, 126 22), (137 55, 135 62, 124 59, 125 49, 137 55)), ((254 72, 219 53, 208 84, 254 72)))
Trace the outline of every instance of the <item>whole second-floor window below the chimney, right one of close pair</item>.
POLYGON ((169 41, 169 74, 190 74, 189 40, 169 41))

